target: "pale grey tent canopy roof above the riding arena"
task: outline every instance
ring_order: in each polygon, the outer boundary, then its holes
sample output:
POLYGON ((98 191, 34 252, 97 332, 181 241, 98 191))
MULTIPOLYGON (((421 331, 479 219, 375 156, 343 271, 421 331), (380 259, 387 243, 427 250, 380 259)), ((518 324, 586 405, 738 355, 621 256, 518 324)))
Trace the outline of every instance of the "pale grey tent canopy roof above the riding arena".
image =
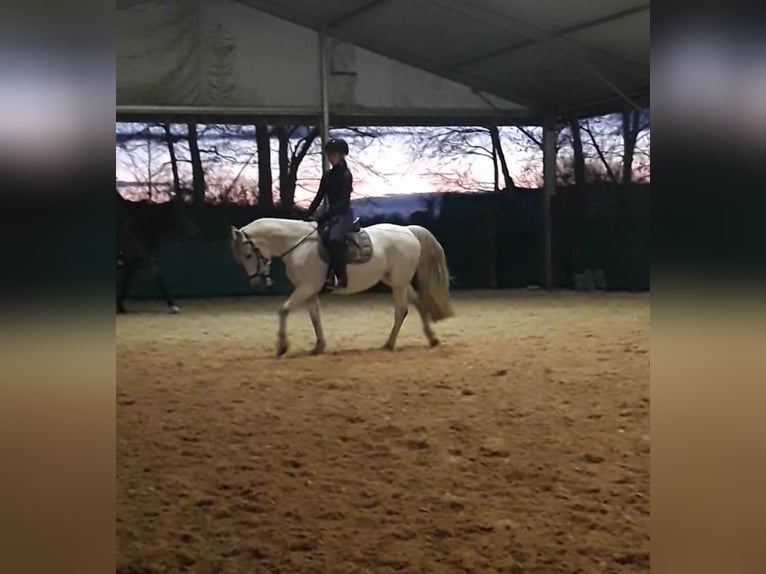
POLYGON ((649 103, 646 0, 118 0, 118 119, 540 123, 649 103))

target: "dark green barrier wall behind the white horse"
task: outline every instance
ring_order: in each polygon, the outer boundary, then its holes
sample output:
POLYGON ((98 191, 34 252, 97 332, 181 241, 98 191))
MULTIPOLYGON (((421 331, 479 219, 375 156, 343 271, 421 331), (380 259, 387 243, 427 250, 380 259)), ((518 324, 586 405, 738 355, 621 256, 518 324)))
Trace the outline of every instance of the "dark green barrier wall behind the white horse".
MULTIPOLYGON (((514 288, 542 280, 542 214, 538 190, 456 193, 440 196, 433 211, 390 214, 363 220, 416 223, 431 229, 444 246, 456 289, 514 288)), ((385 199, 381 200, 385 208, 385 199)), ((190 240, 163 244, 160 265, 170 291, 178 297, 246 295, 253 291, 234 262, 229 226, 256 218, 252 207, 209 206, 200 210, 201 232, 190 240)), ((552 202, 554 280, 573 288, 576 276, 603 274, 606 287, 649 289, 649 187, 615 190, 589 186, 560 188, 552 202)), ((271 293, 288 293, 282 265, 273 266, 271 293)), ((131 297, 155 298, 156 285, 137 279, 131 297)))

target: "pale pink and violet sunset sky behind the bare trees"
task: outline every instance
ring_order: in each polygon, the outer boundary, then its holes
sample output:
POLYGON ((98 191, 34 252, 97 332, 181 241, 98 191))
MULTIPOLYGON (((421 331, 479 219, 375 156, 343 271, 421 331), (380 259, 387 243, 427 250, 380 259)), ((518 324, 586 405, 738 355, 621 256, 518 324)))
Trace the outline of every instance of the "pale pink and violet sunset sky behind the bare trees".
MULTIPOLYGON (((138 128, 140 129, 140 128, 138 128)), ((118 124, 118 131, 138 131, 136 125, 118 124)), ((535 187, 539 184, 542 172, 542 153, 519 132, 511 133, 513 128, 503 128, 503 148, 509 164, 511 176, 517 185, 535 187)), ((429 193, 442 191, 479 191, 492 189, 493 166, 489 157, 467 153, 433 153, 430 146, 424 153, 423 146, 429 145, 429 135, 437 131, 414 129, 414 136, 407 135, 406 129, 377 138, 349 137, 342 130, 331 131, 331 136, 346 137, 350 144, 349 167, 354 175, 354 196, 378 197, 392 194, 429 193), (419 138, 418 138, 419 136, 419 138), (429 142, 424 144, 425 142, 429 142), (428 153, 428 152, 431 153, 428 153)), ((159 130, 157 130, 159 133, 159 130)), ((183 133, 183 132, 181 132, 183 133)), ((648 150, 648 133, 646 134, 648 150)), ((490 147, 489 137, 472 136, 471 145, 490 147)), ((125 193, 143 190, 149 179, 151 164, 152 182, 155 189, 169 185, 172 181, 169 167, 169 155, 164 143, 153 142, 151 162, 148 161, 149 149, 145 139, 130 142, 131 150, 117 146, 116 177, 118 182, 129 184, 123 187, 125 193), (127 191, 130 189, 131 191, 127 191)), ((254 138, 219 138, 208 137, 200 141, 201 148, 215 146, 226 156, 226 160, 206 162, 207 183, 213 193, 217 189, 237 183, 255 189, 258 180, 256 146, 254 138)), ((188 158, 188 146, 185 141, 176 144, 179 158, 188 158)), ((481 152, 481 150, 479 150, 481 152)), ((321 156, 318 140, 299 169, 296 203, 307 205, 314 194, 321 177, 321 156)), ((563 152, 562 150, 562 153, 563 152)), ((212 158, 213 156, 207 156, 212 158)), ((203 161, 205 156, 203 155, 203 161)), ((648 161, 648 158, 646 158, 648 161)), ((191 180, 188 162, 180 164, 181 179, 191 180)), ((272 172, 275 191, 279 183, 277 142, 272 140, 272 172)))

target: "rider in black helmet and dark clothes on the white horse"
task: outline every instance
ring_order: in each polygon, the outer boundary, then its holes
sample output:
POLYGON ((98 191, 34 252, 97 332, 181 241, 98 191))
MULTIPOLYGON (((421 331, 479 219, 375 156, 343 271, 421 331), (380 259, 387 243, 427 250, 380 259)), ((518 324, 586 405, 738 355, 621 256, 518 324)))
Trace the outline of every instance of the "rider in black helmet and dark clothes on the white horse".
POLYGON ((346 165, 348 144, 342 139, 333 138, 324 147, 327 161, 332 168, 322 176, 319 182, 314 201, 309 206, 306 218, 314 215, 322 200, 326 197, 328 202, 327 212, 319 219, 319 227, 322 229, 325 222, 327 226, 328 251, 330 253, 330 268, 333 271, 328 275, 327 287, 335 289, 346 287, 346 233, 353 225, 354 215, 351 210, 351 189, 353 177, 346 165))

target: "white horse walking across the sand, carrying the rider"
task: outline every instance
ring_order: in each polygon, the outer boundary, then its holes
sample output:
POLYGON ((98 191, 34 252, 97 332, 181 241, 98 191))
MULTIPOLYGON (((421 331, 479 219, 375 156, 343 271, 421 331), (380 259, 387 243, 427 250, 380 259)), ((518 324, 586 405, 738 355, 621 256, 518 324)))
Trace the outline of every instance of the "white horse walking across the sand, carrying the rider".
MULTIPOLYGON (((348 286, 333 294, 351 295, 370 289, 382 281, 394 296, 394 326, 384 345, 393 350, 411 301, 423 323, 429 344, 439 344, 431 322, 453 315, 449 298, 449 271, 444 250, 427 229, 418 225, 381 223, 364 229, 372 253, 347 266, 348 286), (417 291, 412 286, 417 281, 417 291)), ((253 285, 270 282, 271 259, 282 259, 287 277, 295 287, 279 310, 277 356, 287 352, 287 316, 293 308, 306 304, 316 334, 312 354, 325 350, 319 315, 319 293, 327 277, 328 265, 320 257, 317 224, 294 219, 262 218, 242 229, 231 228, 234 258, 244 267, 253 285)))

